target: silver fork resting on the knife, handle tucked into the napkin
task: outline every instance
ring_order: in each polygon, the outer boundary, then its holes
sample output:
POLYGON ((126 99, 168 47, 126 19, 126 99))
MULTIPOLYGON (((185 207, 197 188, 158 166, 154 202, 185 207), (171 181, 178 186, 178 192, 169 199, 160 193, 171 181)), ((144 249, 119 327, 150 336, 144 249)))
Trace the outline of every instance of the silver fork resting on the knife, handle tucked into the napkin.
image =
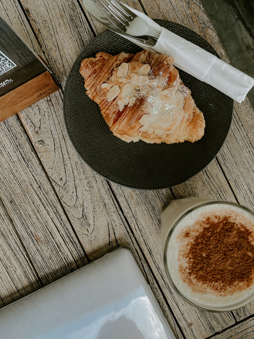
MULTIPOLYGON (((150 29, 147 24, 133 12, 131 12, 127 7, 125 7, 118 0, 105 0, 108 4, 104 4, 102 0, 98 0, 102 6, 100 11, 103 11, 103 14, 106 18, 120 31, 127 33, 133 37, 135 36, 149 36, 158 39, 160 34, 154 32, 150 29)), ((96 4, 96 3, 95 3, 96 4)), ((99 6, 97 6, 99 8, 99 6)))

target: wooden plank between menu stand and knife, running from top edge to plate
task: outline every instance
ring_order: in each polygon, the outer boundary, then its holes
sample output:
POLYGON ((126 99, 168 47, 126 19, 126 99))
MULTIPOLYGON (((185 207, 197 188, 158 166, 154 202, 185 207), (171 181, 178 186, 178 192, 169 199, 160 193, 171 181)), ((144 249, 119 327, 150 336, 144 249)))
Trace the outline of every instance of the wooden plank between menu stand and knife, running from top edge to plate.
MULTIPOLYGON (((9 3, 8 0, 4 1, 9 3)), ((78 3, 73 0, 42 0, 36 5, 33 0, 22 0, 21 3, 40 41, 47 63, 57 81, 64 85, 70 66, 93 38, 78 3)), ((12 7, 15 7, 15 4, 12 7)))

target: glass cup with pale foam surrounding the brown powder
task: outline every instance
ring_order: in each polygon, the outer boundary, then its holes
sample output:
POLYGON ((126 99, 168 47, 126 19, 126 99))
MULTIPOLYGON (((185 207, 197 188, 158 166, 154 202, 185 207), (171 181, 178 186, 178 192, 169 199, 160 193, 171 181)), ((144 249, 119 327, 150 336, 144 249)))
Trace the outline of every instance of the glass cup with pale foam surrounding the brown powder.
MULTIPOLYGON (((227 296, 216 296, 214 291, 209 290, 209 288, 207 289, 207 285, 206 289, 202 290, 200 293, 200 291, 196 289, 195 285, 191 286, 186 283, 188 280, 183 281, 181 279, 179 271, 179 267, 183 267, 181 266, 182 264, 179 264, 179 262, 182 262, 181 255, 183 252, 181 251, 184 248, 184 242, 181 244, 179 243, 179 235, 181 232, 184 232, 184 228, 186 227, 184 226, 185 224, 188 225, 187 227, 193 227, 192 223, 197 220, 199 214, 201 215, 201 213, 203 213, 202 215, 204 216, 204 213, 208 213, 209 209, 218 211, 220 211, 220 209, 221 211, 233 211, 233 213, 235 212, 238 216, 240 215, 240 218, 242 218, 241 220, 248 220, 248 229, 251 230, 253 236, 251 245, 253 247, 251 248, 254 248, 254 213, 252 211, 239 204, 226 201, 193 197, 175 199, 170 201, 161 213, 161 239, 164 267, 172 287, 185 301, 202 310, 210 312, 228 312, 245 306, 254 300, 254 272, 252 272, 252 283, 247 289, 240 287, 242 286, 240 284, 238 286, 238 282, 235 282, 235 286, 238 288, 237 293, 234 293, 232 292, 233 290, 231 290, 230 294, 227 296)), ((192 232, 194 231, 192 230, 192 232)), ((188 261, 189 258, 185 260, 188 261)), ((233 259, 231 259, 231 263, 232 260, 233 259)), ((203 284, 203 282, 201 282, 201 284, 203 284)))

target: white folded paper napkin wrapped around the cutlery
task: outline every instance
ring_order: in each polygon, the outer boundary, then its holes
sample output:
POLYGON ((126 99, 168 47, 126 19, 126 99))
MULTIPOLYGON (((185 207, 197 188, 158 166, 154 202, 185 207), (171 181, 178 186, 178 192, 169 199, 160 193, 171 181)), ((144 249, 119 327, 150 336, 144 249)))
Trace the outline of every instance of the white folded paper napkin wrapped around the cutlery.
MULTIPOLYGON (((254 86, 253 78, 203 48, 161 27, 144 13, 125 6, 143 19, 149 28, 160 34, 153 48, 148 48, 142 43, 137 44, 134 39, 126 39, 150 52, 172 56, 176 67, 219 89, 235 101, 240 103, 245 99, 247 93, 254 86)), ((138 31, 138 27, 133 28, 138 31)))

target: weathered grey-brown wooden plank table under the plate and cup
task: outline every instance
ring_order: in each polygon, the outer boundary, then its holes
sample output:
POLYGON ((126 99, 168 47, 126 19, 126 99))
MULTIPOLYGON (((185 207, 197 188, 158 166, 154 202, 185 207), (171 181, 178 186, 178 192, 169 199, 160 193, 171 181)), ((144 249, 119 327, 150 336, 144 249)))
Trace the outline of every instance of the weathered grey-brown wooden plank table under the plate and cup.
MULTIPOLYGON (((193 29, 229 62, 198 0, 127 3, 151 18, 193 29)), ((254 303, 208 313, 174 293, 164 272, 159 233, 160 212, 173 198, 228 200, 253 210, 254 115, 248 99, 235 103, 227 140, 202 173, 161 191, 112 184, 71 145, 62 102, 72 63, 104 28, 80 0, 1 0, 0 15, 45 58, 61 87, 0 123, 0 306, 127 246, 177 338, 254 338, 254 303)))

